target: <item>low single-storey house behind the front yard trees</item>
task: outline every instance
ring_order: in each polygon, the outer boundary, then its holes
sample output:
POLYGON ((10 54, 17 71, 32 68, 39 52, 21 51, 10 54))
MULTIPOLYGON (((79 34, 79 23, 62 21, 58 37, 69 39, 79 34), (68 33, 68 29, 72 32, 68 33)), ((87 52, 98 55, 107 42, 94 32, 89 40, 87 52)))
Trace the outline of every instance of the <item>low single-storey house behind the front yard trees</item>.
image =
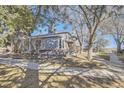
POLYGON ((43 55, 55 56, 76 52, 76 46, 78 46, 77 38, 69 32, 31 36, 30 38, 22 39, 21 42, 20 47, 24 52, 35 53, 40 57, 43 55))

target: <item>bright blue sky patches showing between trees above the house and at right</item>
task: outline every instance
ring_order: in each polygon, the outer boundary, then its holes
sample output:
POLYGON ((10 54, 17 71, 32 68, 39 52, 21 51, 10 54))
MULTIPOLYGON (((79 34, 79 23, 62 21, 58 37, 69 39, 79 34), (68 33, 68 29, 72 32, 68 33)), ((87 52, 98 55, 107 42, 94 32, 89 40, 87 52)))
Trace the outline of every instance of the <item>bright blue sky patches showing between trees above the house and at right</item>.
MULTIPOLYGON (((64 27, 65 27, 64 24, 59 24, 56 27, 56 31, 57 32, 62 32, 62 31, 71 32, 72 31, 72 27, 70 25, 67 25, 67 27, 65 29, 64 29, 64 27)), ((38 28, 38 30, 35 30, 32 33, 32 36, 47 34, 47 31, 44 31, 44 30, 45 30, 45 28, 38 28)), ((106 48, 116 48, 116 42, 114 41, 114 39, 111 35, 105 35, 104 37, 105 37, 105 39, 110 41, 110 44, 108 46, 106 46, 106 48)))

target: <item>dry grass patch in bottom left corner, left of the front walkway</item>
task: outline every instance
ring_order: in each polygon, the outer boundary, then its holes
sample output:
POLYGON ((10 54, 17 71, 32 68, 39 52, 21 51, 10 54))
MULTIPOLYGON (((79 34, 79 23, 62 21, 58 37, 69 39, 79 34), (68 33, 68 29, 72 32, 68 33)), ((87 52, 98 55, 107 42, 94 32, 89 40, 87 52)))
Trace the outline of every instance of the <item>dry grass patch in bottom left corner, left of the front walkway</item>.
POLYGON ((0 87, 19 87, 24 77, 23 69, 16 66, 0 64, 0 87))

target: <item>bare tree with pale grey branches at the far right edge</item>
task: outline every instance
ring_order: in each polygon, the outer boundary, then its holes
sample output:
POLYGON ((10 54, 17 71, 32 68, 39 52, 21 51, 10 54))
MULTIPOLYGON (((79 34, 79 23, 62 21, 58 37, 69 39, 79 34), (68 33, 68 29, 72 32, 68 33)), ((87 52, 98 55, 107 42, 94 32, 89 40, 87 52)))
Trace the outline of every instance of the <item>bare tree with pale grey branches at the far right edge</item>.
POLYGON ((112 35, 117 45, 117 52, 121 52, 121 46, 124 42, 124 20, 123 15, 113 16, 106 21, 104 25, 106 32, 112 35))

